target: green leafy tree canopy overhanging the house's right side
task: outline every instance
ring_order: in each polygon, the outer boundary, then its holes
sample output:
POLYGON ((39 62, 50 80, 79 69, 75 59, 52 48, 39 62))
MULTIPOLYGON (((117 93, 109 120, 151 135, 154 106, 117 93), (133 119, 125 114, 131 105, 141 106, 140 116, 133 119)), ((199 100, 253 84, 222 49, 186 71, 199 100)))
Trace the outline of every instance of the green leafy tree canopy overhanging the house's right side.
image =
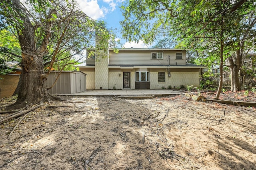
MULTIPOLYGON (((184 48, 203 53, 208 63, 218 62, 220 67, 233 53, 241 53, 244 42, 255 45, 254 0, 131 0, 121 10, 127 40, 152 43, 159 37, 175 37, 184 48)), ((234 60, 240 61, 237 56, 234 60)), ((235 65, 240 69, 240 62, 235 65)), ((238 73, 233 77, 238 79, 238 73)), ((237 85, 233 90, 239 89, 237 85)))

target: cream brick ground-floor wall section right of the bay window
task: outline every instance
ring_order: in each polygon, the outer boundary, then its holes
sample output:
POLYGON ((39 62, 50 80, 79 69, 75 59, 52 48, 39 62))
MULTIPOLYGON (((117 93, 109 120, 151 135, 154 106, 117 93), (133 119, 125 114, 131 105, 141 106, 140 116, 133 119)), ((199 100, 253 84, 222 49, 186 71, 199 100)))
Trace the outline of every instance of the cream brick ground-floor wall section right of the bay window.
POLYGON ((199 87, 200 85, 199 72, 171 72, 171 77, 168 77, 168 73, 165 72, 165 83, 158 83, 158 72, 150 72, 150 89, 168 89, 168 86, 172 88, 180 87, 180 85, 194 85, 199 87))

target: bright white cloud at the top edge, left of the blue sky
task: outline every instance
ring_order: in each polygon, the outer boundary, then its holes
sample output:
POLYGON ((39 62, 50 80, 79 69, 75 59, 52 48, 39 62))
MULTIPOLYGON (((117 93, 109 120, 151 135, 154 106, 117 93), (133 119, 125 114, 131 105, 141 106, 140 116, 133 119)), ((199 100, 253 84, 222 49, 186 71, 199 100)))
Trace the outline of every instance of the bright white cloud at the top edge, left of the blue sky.
POLYGON ((105 16, 105 8, 100 8, 97 0, 78 0, 81 10, 94 20, 105 16))

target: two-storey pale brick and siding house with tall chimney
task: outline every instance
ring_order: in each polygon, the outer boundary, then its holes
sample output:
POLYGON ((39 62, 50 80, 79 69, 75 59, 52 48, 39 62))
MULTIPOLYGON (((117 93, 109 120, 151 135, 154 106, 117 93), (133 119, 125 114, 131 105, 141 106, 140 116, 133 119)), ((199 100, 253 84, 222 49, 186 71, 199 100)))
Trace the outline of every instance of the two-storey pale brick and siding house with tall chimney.
POLYGON ((86 64, 87 89, 167 89, 200 85, 202 65, 186 63, 182 49, 110 49, 96 51, 86 64))

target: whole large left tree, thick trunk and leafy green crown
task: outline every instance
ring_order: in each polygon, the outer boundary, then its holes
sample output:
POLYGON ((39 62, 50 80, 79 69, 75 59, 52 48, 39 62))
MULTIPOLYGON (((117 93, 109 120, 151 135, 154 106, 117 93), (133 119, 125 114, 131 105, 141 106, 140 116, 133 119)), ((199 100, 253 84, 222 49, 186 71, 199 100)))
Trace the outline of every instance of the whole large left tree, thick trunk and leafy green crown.
POLYGON ((0 18, 1 28, 11 29, 20 44, 22 88, 17 107, 52 99, 46 79, 54 63, 61 71, 83 57, 84 49, 95 46, 96 32, 102 42, 114 38, 104 22, 92 20, 74 0, 3 0, 0 18))

